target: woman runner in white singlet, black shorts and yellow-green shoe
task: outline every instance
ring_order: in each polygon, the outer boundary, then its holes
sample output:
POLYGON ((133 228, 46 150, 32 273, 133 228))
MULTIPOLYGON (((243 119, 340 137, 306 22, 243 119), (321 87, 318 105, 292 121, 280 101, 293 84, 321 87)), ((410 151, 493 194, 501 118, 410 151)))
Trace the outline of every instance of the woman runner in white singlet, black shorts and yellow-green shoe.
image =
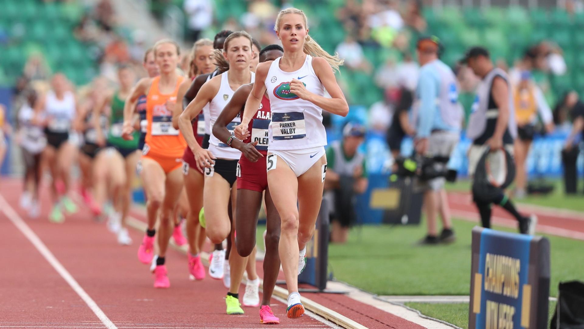
MULTIPOLYGON (((215 119, 230 101, 235 90, 242 84, 253 81, 254 74, 249 71, 249 62, 252 57, 252 38, 244 31, 231 33, 225 39, 223 54, 220 50, 215 50, 215 52, 215 61, 221 62, 218 63, 220 64, 218 66, 225 73, 212 78, 201 87, 197 96, 180 115, 179 127, 189 148, 193 151, 197 169, 201 171, 204 169, 203 205, 207 223, 207 237, 214 244, 218 244, 227 237, 230 237, 232 242, 234 241, 228 215, 228 204, 231 196, 232 214, 235 221, 237 218, 235 214, 237 189, 231 189, 231 187, 234 186, 237 179, 237 163, 241 152, 221 142, 213 134, 211 134, 209 149, 201 148, 194 137, 191 121, 208 103, 211 126, 213 126, 215 119)), ((239 118, 235 118, 231 122, 229 129, 234 129, 237 124, 239 124, 239 118)), ((229 262, 231 280, 230 290, 225 298, 227 314, 243 314, 244 311, 239 306, 238 292, 247 259, 239 256, 237 248, 231 248, 229 262)))

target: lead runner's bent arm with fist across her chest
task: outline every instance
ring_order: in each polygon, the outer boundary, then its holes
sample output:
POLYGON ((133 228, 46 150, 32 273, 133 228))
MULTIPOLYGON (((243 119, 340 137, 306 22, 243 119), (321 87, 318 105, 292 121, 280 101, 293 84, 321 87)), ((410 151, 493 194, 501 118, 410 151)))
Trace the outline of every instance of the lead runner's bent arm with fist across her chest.
POLYGON ((292 79, 290 82, 290 91, 298 95, 303 100, 307 100, 319 108, 324 109, 332 114, 346 116, 349 114, 349 104, 345 99, 343 91, 340 90, 339 84, 336 83, 335 73, 333 73, 331 66, 321 57, 314 57, 312 59, 312 68, 314 73, 321 80, 326 91, 328 91, 331 98, 315 95, 308 91, 304 84, 298 79, 292 79))

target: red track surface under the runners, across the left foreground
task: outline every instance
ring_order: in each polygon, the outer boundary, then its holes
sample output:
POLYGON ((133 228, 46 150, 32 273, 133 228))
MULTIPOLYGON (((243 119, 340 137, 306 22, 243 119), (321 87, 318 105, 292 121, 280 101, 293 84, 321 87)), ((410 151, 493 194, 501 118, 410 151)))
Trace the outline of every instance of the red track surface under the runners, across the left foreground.
MULTIPOLYGON (((265 328, 257 308, 244 308, 242 316, 225 314, 223 283, 207 276, 202 282, 188 279, 186 256, 167 255, 171 288, 154 289, 148 266, 137 260, 140 232, 130 230, 132 246, 117 245, 103 223, 92 220, 85 208, 68 216, 64 224, 47 221, 50 200, 42 193, 38 220, 20 211, 20 181, 2 179, 0 194, 25 220, 106 316, 119 328, 265 328)), ((135 215, 135 214, 134 214, 135 215)), ((39 251, 0 211, 3 242, 0 271, 0 327, 103 328, 98 317, 55 271, 39 251)), ((258 268, 261 269, 260 263, 258 268)), ((262 273, 259 271, 260 276, 262 273)), ((243 287, 240 291, 243 294, 243 287)), ((369 328, 422 328, 346 296, 306 294, 306 297, 352 318, 369 328)), ((286 318, 286 306, 272 301, 280 325, 274 328, 326 328, 304 316, 286 318)))

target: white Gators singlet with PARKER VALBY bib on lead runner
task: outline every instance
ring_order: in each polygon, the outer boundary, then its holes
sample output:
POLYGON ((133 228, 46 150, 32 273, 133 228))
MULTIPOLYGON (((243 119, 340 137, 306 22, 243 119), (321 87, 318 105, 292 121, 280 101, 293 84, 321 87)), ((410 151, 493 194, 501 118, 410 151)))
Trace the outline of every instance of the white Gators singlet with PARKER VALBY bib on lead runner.
POLYGON ((280 69, 280 58, 274 60, 266 76, 266 90, 272 108, 268 150, 301 150, 326 145, 322 125, 322 108, 302 100, 290 91, 290 81, 302 81, 306 89, 324 96, 325 88, 312 68, 312 56, 306 55, 303 66, 294 72, 280 69))

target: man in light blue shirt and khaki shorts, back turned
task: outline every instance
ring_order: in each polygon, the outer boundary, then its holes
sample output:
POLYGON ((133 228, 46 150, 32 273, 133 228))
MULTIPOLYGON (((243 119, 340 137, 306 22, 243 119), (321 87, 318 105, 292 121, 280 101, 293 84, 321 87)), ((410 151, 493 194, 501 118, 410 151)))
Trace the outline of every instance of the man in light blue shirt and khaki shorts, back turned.
MULTIPOLYGON (((442 46, 437 37, 418 40, 417 52, 420 75, 413 105, 413 122, 416 129, 415 150, 419 155, 440 158, 434 166, 445 168, 453 152, 463 119, 463 109, 458 102, 458 88, 453 71, 439 59, 442 46)), ((438 168, 437 168, 438 169, 438 168)), ((450 220, 450 208, 444 190, 444 177, 422 183, 424 207, 428 227, 421 244, 453 242, 455 239, 450 220), (437 235, 436 216, 442 218, 442 233, 437 235)))

